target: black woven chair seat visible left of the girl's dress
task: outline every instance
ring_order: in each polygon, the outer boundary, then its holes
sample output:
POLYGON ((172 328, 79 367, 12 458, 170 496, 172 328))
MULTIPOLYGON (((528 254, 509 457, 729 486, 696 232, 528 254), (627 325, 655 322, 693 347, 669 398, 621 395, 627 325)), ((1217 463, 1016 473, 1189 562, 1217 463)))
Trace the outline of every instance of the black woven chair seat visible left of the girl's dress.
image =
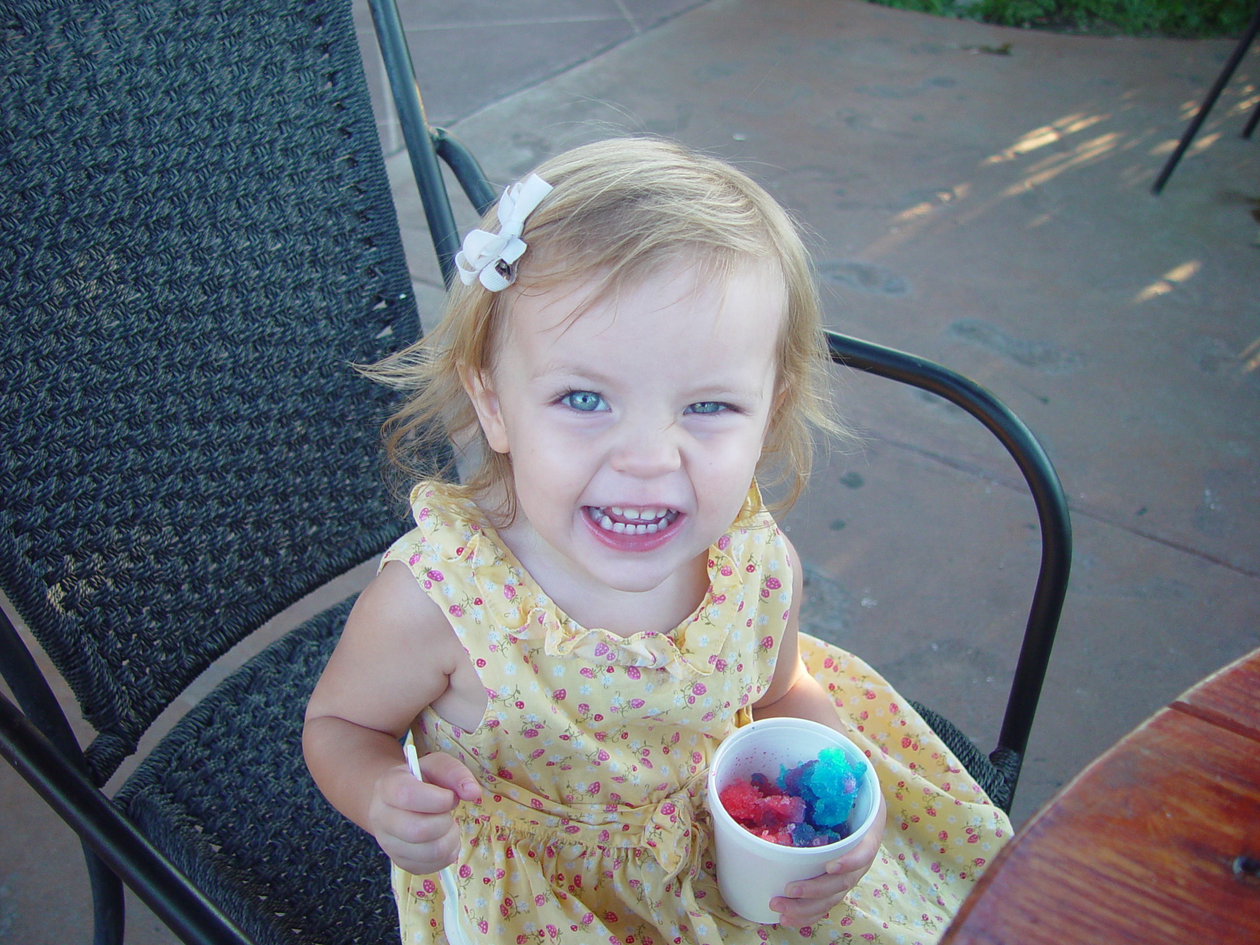
POLYGON ((220 683, 145 759, 117 803, 258 945, 398 940, 389 861, 302 762, 302 707, 353 598, 220 683), (318 874, 294 863, 321 863, 318 874))

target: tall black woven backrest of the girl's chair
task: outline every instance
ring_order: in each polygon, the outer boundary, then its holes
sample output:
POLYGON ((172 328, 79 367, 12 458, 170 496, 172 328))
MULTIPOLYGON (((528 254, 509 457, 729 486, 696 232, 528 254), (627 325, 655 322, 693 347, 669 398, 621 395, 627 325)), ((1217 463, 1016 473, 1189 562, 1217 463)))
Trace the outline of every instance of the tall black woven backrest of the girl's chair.
POLYGON ((349 0, 15 0, 0 32, 0 585, 103 784, 403 530, 350 365, 418 318, 349 0))

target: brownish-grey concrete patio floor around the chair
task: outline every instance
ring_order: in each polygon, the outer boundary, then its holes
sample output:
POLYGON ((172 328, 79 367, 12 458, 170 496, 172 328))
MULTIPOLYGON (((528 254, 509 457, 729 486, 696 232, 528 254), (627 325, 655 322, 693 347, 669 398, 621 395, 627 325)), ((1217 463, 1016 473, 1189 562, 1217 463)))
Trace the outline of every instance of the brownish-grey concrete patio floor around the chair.
MULTIPOLYGON (((441 280, 357 9, 431 320, 441 280)), ((1260 645, 1260 139, 1239 137, 1260 101, 1255 50, 1153 197, 1228 40, 1061 35, 857 0, 403 13, 431 120, 496 184, 620 134, 724 156, 808 228, 829 326, 960 370, 1041 438, 1076 554, 1016 823, 1260 645)), ((472 226, 465 202, 456 214, 472 226)), ((832 450, 782 519, 808 568, 805 629, 988 751, 1036 578, 1032 501, 958 408, 842 372, 837 392, 861 442, 832 450)), ((185 704, 370 571, 278 617, 185 704)), ((0 823, 0 941, 86 941, 77 843, 8 766, 0 823)), ((127 942, 170 941, 134 906, 127 942)))

